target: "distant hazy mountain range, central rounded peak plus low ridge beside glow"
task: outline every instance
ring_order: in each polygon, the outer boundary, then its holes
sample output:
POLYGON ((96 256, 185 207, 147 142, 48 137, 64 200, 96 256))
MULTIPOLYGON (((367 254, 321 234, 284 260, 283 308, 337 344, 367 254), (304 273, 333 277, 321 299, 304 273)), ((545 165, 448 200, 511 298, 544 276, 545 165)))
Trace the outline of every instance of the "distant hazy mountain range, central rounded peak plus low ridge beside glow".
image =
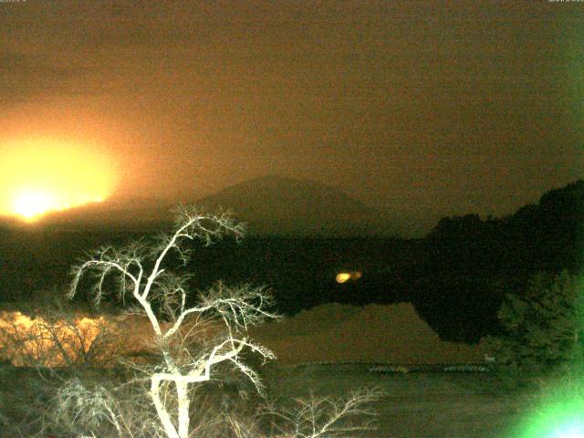
MULTIPOLYGON (((393 235, 375 209, 339 189, 310 180, 263 176, 237 183, 192 203, 207 211, 229 210, 248 225, 249 235, 393 235)), ((172 223, 175 202, 112 198, 52 212, 39 224, 55 229, 160 229, 172 223)))

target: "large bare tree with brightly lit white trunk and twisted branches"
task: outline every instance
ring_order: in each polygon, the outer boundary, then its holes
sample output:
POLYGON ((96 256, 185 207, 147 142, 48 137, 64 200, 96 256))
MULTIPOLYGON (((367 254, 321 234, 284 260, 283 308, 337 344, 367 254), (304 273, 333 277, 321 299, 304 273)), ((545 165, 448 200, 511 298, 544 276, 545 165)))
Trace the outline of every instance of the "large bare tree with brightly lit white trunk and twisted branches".
MULTIPOLYGON (((261 391, 261 381, 242 360, 242 353, 251 350, 263 360, 275 358, 272 351, 245 336, 248 327, 276 318, 269 310, 272 298, 264 288, 217 283, 200 293, 195 304, 187 305, 190 278, 173 273, 166 263, 178 257, 186 264, 187 244, 195 239, 211 245, 224 235, 239 239, 243 232, 243 226, 229 214, 203 214, 182 207, 171 234, 161 235, 153 243, 141 240, 122 248, 102 247, 73 268, 69 297, 78 293, 83 276, 90 274, 96 305, 115 285, 114 297, 123 303, 133 300, 137 306, 131 311, 148 318, 162 360, 141 370, 148 373, 151 401, 169 438, 187 438, 191 432, 192 385, 210 381, 214 370, 229 364, 261 391), (174 401, 168 397, 171 387, 174 401)), ((107 418, 110 416, 108 412, 107 418)))

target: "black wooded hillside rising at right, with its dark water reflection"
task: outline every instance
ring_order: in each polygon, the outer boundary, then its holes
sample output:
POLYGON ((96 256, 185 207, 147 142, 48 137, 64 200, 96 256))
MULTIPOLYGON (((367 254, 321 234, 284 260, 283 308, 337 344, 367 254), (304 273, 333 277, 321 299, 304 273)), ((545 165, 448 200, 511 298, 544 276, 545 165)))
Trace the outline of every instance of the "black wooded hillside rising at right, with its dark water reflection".
POLYGON ((579 273, 583 231, 581 180, 503 218, 444 218, 408 268, 412 302, 443 339, 476 341, 496 330, 506 294, 521 294, 537 272, 579 273))

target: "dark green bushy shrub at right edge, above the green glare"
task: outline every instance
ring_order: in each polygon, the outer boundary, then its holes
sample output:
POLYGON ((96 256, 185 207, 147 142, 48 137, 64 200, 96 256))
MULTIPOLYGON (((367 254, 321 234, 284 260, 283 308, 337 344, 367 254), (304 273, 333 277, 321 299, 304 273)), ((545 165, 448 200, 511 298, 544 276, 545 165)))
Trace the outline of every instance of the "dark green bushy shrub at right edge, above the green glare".
POLYGON ((505 333, 489 339, 497 369, 545 376, 579 368, 584 359, 584 294, 577 276, 539 273, 498 311, 505 333))

